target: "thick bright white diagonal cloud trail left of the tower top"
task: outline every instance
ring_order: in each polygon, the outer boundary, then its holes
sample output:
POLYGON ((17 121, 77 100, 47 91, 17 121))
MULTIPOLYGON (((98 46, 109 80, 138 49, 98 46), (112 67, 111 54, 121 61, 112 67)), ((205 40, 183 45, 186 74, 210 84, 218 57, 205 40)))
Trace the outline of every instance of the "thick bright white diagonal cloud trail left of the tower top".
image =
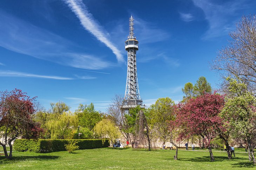
POLYGON ((119 62, 124 62, 123 56, 119 49, 109 41, 107 32, 97 23, 91 13, 89 13, 87 7, 82 0, 64 0, 75 15, 80 20, 81 25, 94 35, 100 42, 104 43, 112 52, 116 55, 119 62))

